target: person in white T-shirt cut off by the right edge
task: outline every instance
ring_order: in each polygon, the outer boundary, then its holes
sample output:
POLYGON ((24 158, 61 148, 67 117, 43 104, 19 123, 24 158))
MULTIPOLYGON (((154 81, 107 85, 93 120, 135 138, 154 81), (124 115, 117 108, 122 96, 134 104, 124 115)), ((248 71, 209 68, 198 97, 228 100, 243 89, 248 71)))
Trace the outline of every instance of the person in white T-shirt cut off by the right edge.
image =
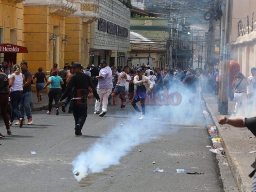
POLYGON ((256 99, 256 68, 251 69, 252 75, 248 77, 248 93, 249 93, 249 102, 252 106, 256 99))

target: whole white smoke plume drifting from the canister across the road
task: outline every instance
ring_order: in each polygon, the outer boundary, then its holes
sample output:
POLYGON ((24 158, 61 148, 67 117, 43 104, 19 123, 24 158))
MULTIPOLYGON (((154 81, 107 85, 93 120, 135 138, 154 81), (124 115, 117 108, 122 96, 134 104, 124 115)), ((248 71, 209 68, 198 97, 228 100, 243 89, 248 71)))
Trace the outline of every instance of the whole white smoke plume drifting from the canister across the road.
MULTIPOLYGON (((162 96, 164 97, 164 96, 162 96)), ((111 130, 103 138, 92 144, 86 152, 82 152, 73 160, 73 173, 77 181, 82 180, 88 174, 103 172, 105 168, 120 164, 120 159, 125 156, 133 147, 149 142, 159 134, 163 134, 167 128, 173 126, 171 130, 176 133, 180 126, 176 125, 198 125, 199 120, 194 118, 202 115, 200 102, 195 100, 195 105, 188 105, 189 95, 184 95, 181 104, 172 106, 163 102, 162 105, 146 104, 146 119, 136 120, 137 115, 123 110, 125 117, 131 117, 127 124, 119 125, 111 130), (187 98, 185 98, 187 97, 187 98), (189 113, 190 112, 190 113, 189 113), (75 171, 80 174, 75 175, 75 171)), ((166 98, 165 98, 166 99, 166 98)), ((174 99, 176 101, 176 99, 174 99)), ((158 102, 162 103, 162 102, 158 102)), ((138 107, 141 108, 139 102, 138 107)), ((116 116, 120 116, 122 111, 116 116)), ((169 130, 170 131, 170 130, 169 130)))

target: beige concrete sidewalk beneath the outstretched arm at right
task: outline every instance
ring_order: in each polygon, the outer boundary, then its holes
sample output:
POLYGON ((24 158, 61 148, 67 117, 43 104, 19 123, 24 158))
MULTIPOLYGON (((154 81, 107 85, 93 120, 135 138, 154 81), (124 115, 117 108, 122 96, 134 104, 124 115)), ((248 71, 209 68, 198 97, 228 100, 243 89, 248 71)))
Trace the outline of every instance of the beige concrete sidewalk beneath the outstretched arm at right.
MULTIPOLYGON (((255 154, 249 153, 256 151, 253 133, 247 128, 235 128, 231 125, 219 125, 217 97, 213 94, 203 94, 208 112, 218 128, 219 138, 224 148, 227 161, 232 170, 235 182, 240 192, 250 192, 252 179, 248 175, 253 171, 251 164, 255 161, 255 154)), ((228 116, 232 114, 235 101, 228 102, 228 116)), ((237 117, 239 118, 239 117, 237 117)))

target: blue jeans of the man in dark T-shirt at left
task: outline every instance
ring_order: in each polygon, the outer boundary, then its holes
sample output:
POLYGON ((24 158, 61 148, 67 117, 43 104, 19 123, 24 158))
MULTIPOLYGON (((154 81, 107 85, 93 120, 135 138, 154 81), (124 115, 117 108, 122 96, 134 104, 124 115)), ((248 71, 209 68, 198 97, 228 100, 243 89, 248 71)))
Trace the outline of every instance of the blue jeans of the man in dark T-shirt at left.
POLYGON ((21 116, 24 117, 24 112, 26 112, 27 119, 32 118, 32 112, 30 108, 32 92, 23 93, 22 100, 20 102, 20 112, 21 116))

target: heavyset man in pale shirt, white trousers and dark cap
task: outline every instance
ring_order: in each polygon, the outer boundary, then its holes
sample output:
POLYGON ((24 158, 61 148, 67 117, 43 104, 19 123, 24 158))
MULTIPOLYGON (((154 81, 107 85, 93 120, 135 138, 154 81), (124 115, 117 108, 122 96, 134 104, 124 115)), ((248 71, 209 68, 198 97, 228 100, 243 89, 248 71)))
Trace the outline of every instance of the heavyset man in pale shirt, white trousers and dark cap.
POLYGON ((96 100, 95 103, 95 112, 94 114, 98 115, 100 117, 103 117, 107 113, 107 107, 108 107, 108 97, 112 92, 113 83, 112 83, 112 71, 110 67, 107 64, 106 60, 101 60, 100 62, 100 72, 99 75, 96 76, 98 79, 98 85, 97 85, 97 91, 98 95, 100 97, 100 100, 102 100, 102 112, 99 113, 100 109, 100 102, 96 100))

